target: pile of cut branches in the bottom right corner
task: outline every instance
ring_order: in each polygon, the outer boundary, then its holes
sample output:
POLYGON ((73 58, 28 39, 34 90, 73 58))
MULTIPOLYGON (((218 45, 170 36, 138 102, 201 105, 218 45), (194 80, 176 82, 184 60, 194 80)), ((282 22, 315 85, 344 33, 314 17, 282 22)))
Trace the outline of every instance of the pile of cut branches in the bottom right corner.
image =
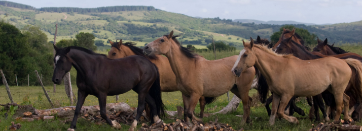
POLYGON ((331 123, 322 123, 320 122, 317 126, 314 126, 314 124, 312 124, 311 129, 309 129, 309 131, 327 131, 327 130, 340 130, 340 131, 360 131, 362 130, 362 126, 360 125, 354 125, 354 121, 353 119, 348 119, 346 121, 344 120, 337 120, 337 121, 333 121, 331 123))

